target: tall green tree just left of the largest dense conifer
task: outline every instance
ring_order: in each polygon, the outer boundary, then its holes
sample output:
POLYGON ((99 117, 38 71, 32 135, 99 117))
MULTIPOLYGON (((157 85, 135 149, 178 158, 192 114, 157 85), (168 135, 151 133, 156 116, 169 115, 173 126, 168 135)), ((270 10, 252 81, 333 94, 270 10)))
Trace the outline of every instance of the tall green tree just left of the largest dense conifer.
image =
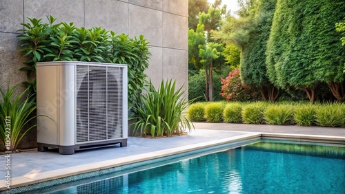
POLYGON ((266 76, 266 43, 277 0, 242 0, 237 14, 227 17, 213 37, 241 48, 241 78, 247 87, 256 88, 264 100, 274 101, 277 89, 266 76))

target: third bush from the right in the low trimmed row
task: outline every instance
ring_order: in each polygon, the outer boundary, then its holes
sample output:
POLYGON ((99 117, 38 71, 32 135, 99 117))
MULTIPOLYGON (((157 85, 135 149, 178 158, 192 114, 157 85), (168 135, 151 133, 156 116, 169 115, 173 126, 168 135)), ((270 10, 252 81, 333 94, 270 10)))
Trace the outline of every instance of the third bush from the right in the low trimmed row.
POLYGON ((274 105, 266 109, 264 118, 269 125, 293 124, 293 106, 274 105))

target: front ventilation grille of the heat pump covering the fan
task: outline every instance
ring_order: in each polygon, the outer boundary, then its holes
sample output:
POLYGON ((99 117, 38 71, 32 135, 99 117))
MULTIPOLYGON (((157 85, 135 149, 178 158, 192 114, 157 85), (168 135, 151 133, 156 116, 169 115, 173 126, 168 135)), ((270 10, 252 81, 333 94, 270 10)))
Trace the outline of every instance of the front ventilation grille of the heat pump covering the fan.
POLYGON ((123 137, 122 70, 77 65, 77 142, 123 137))

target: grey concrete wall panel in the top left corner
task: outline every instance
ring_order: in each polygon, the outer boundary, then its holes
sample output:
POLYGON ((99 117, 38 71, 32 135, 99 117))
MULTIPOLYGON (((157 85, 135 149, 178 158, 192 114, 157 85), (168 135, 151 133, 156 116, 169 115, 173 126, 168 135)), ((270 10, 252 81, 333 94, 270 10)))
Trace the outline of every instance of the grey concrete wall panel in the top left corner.
POLYGON ((23 0, 0 0, 0 32, 16 33, 23 29, 23 0))

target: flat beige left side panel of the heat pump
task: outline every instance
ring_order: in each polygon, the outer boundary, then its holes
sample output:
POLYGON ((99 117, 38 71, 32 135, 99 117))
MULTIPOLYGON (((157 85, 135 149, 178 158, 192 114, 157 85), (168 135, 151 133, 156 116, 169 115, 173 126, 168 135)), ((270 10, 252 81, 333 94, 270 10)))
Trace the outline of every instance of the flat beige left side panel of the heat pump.
POLYGON ((57 67, 37 67, 37 142, 57 144, 57 67))

